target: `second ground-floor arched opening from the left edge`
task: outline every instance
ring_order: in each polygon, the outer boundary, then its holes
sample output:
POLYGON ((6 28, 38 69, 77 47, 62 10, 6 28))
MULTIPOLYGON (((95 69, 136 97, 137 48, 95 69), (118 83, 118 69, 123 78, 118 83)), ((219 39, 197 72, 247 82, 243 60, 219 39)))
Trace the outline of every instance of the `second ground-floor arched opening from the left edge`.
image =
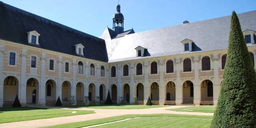
POLYGON ((38 86, 39 82, 36 78, 30 78, 26 86, 26 101, 27 104, 38 104, 38 86))

